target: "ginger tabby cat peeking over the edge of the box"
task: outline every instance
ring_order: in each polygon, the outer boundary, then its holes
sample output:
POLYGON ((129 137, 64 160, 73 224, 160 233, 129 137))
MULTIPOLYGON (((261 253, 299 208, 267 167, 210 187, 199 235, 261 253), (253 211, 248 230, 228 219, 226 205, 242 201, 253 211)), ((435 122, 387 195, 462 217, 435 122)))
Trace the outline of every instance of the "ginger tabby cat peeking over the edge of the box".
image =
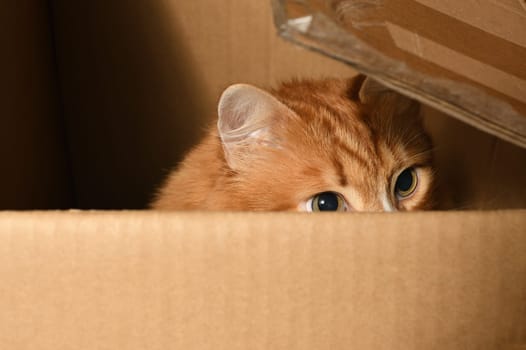
POLYGON ((154 209, 431 209, 431 141, 418 103, 358 75, 236 84, 212 128, 158 191, 154 209))

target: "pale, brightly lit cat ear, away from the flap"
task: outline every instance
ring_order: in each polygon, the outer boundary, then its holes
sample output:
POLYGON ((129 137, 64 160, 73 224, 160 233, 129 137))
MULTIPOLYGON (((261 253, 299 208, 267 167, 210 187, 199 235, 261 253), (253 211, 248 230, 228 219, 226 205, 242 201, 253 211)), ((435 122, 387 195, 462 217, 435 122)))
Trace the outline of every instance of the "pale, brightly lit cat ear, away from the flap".
POLYGON ((271 125, 287 113, 291 110, 268 92, 246 84, 228 87, 219 100, 217 122, 228 165, 239 168, 253 146, 278 147, 271 125))

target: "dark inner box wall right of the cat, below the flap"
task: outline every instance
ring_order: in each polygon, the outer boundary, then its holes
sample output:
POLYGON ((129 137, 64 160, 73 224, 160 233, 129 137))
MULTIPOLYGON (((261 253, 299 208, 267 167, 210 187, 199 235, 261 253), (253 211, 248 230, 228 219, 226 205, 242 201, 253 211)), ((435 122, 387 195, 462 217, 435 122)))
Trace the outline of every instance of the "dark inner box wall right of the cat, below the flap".
POLYGON ((526 208, 526 149, 424 107, 444 209, 526 208))

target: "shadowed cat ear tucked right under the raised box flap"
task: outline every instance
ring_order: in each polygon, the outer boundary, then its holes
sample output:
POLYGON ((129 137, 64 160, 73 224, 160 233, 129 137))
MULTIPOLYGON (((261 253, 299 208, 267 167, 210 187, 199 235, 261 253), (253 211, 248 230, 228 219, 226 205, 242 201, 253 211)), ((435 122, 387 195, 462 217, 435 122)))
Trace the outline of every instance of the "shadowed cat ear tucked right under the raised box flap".
POLYGON ((366 105, 381 104, 384 107, 390 107, 394 115, 413 113, 419 107, 417 101, 391 90, 370 77, 363 79, 358 99, 366 105))

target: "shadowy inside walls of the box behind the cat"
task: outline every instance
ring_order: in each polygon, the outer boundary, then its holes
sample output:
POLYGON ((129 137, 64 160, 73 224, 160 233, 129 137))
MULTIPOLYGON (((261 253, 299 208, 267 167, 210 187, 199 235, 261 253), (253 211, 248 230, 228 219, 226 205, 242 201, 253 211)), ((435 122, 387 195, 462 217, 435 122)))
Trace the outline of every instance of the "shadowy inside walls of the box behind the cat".
MULTIPOLYGON (((356 74, 277 37, 266 2, 1 6, 3 209, 145 208, 229 84, 356 74)), ((526 151, 427 109, 449 208, 524 208, 526 151)))

